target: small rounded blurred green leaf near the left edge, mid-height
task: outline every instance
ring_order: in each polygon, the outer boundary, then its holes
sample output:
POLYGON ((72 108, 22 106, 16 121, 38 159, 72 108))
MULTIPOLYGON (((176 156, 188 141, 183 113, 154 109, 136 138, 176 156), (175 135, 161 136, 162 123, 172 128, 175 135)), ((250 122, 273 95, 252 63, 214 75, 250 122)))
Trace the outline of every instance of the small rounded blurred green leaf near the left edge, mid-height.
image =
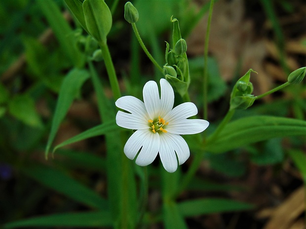
POLYGON ((33 98, 28 95, 17 95, 8 103, 8 110, 16 119, 31 127, 41 128, 42 122, 36 111, 33 98))

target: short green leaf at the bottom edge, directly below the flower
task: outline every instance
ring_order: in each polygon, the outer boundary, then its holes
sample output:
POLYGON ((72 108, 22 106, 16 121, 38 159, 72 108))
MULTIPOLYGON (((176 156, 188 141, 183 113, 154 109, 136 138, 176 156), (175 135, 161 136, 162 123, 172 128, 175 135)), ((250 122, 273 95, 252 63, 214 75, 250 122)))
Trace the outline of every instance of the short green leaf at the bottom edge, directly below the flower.
POLYGON ((163 207, 165 229, 188 229, 180 207, 175 202, 166 202, 163 207))

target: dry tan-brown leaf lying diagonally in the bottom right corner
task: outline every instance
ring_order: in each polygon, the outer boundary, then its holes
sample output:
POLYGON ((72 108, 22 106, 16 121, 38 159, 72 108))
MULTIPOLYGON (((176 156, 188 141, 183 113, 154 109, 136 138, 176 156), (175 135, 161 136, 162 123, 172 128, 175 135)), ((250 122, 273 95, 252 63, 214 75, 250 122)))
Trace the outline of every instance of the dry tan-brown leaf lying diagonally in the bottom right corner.
POLYGON ((293 192, 272 214, 264 229, 290 229, 305 210, 305 188, 293 192))

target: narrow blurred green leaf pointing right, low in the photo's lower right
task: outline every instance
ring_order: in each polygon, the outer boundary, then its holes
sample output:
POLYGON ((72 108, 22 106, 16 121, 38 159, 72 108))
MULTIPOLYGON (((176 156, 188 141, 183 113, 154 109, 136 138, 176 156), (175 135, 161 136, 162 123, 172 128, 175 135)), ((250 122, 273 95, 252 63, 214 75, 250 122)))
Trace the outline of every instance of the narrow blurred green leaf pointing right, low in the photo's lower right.
POLYGON ((232 199, 205 198, 178 203, 178 208, 184 217, 191 217, 203 214, 251 210, 254 205, 232 199))

